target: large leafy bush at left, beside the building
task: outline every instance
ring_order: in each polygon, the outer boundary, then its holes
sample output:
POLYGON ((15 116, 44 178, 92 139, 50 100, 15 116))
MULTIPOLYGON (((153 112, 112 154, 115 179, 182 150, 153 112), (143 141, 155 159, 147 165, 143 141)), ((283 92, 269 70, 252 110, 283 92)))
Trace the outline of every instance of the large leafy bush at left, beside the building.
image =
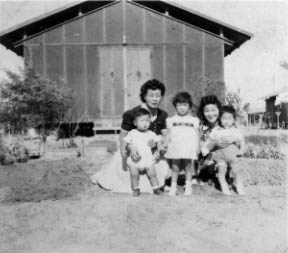
POLYGON ((2 84, 0 123, 19 132, 27 127, 61 122, 71 108, 72 92, 41 77, 33 69, 6 71, 2 84))

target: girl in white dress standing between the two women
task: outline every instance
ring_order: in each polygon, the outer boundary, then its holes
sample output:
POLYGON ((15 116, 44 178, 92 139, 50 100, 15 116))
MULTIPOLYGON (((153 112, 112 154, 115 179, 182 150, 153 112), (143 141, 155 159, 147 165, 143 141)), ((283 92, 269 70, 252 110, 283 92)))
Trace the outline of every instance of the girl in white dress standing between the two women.
POLYGON ((177 194, 177 179, 180 170, 185 170, 185 196, 192 194, 194 160, 199 150, 199 119, 191 115, 192 98, 188 92, 179 92, 172 101, 176 115, 167 119, 168 133, 165 140, 170 160, 172 177, 170 196, 177 194))

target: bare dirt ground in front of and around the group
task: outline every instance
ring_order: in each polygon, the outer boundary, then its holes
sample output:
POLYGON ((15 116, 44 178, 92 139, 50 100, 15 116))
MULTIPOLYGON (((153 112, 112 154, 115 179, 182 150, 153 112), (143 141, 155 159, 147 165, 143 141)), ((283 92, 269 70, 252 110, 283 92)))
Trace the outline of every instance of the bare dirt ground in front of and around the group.
POLYGON ((133 198, 92 184, 111 158, 111 142, 93 138, 84 157, 80 139, 51 142, 38 160, 0 167, 1 253, 288 252, 287 161, 242 159, 245 197, 196 185, 191 197, 133 198))

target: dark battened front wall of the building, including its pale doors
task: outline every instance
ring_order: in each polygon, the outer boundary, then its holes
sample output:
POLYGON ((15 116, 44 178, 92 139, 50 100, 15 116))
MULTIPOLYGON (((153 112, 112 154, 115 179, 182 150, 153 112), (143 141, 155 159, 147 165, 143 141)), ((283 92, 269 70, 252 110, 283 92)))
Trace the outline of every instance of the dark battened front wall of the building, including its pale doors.
POLYGON ((91 120, 121 117, 149 78, 165 83, 163 108, 170 112, 170 98, 179 90, 189 90, 197 102, 199 77, 224 79, 221 38, 131 2, 110 4, 28 38, 24 56, 40 74, 70 86, 74 116, 86 112, 91 120))

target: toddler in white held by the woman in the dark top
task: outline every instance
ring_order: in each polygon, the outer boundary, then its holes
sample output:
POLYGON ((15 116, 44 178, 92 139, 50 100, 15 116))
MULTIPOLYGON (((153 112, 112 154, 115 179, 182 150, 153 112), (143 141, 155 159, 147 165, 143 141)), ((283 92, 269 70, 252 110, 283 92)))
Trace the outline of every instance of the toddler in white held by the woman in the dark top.
POLYGON ((126 143, 132 144, 138 149, 141 156, 138 161, 133 161, 131 156, 127 159, 133 196, 140 195, 140 174, 146 174, 148 176, 154 194, 162 195, 154 168, 156 159, 159 158, 159 152, 156 151, 152 154, 151 147, 148 145, 148 142, 153 140, 157 143, 157 147, 159 147, 161 137, 148 130, 150 126, 150 113, 146 109, 140 108, 136 111, 134 115, 134 124, 136 129, 131 130, 124 138, 126 143))

